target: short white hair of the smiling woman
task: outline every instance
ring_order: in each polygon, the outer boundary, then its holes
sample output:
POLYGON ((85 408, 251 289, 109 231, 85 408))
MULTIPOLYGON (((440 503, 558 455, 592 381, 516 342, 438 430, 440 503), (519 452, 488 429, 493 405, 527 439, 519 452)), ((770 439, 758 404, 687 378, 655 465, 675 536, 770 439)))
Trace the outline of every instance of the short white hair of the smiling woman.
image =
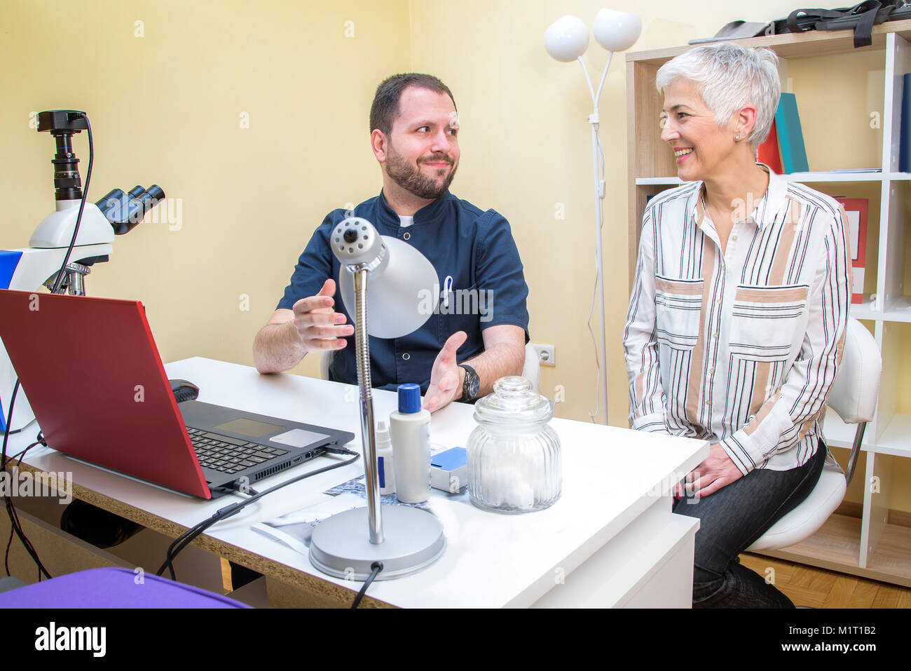
POLYGON ((756 108, 756 123, 747 141, 759 147, 769 135, 782 95, 778 78, 778 57, 766 47, 743 48, 730 42, 697 46, 672 58, 658 70, 655 85, 659 93, 677 79, 690 79, 706 107, 723 127, 744 105, 756 108))

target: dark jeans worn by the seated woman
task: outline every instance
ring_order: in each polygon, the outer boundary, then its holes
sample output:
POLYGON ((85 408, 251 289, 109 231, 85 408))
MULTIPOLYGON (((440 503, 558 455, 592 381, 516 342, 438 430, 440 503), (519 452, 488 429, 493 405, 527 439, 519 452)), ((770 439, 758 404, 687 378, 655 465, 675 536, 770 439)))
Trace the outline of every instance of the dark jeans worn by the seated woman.
POLYGON ((825 446, 792 470, 751 470, 704 499, 683 498, 673 511, 698 517, 693 566, 693 608, 793 608, 765 578, 742 566, 737 555, 804 501, 819 480, 825 446))

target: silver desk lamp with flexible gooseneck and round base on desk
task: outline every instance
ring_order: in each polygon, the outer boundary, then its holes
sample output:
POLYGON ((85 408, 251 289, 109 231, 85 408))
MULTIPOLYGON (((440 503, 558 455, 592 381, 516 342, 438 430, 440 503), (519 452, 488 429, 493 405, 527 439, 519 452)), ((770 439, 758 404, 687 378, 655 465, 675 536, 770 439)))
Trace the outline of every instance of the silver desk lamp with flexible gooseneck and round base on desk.
POLYGON ((339 223, 330 243, 342 263, 342 300, 354 316, 367 507, 322 521, 313 530, 310 561, 323 573, 359 581, 370 576, 371 564, 382 562, 383 571, 375 579, 391 580, 434 563, 446 541, 442 523, 430 512, 411 506, 381 507, 367 336, 394 338, 419 328, 430 317, 419 299, 425 291, 438 294, 439 282, 422 253, 396 238, 380 236, 360 217, 339 223))

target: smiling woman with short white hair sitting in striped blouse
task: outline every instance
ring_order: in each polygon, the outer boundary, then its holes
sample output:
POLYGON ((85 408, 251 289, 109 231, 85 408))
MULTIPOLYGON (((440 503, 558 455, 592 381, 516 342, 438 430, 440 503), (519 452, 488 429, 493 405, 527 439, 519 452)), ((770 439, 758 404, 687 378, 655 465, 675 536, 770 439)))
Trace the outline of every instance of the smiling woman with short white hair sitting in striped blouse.
POLYGON ((755 162, 781 95, 769 49, 658 71, 683 186, 651 199, 623 334, 633 428, 707 439, 674 511, 701 519, 693 605, 793 607, 737 555, 813 490, 851 296, 844 213, 755 162))

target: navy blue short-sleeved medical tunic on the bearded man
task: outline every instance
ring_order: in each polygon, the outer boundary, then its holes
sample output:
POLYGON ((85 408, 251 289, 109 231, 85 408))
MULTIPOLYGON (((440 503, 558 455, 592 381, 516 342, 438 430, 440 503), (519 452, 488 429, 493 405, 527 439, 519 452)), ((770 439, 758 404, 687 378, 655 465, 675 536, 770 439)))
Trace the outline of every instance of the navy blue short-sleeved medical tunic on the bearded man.
MULTIPOLYGON (((313 232, 279 308, 290 310, 300 299, 316 295, 322 283, 332 277, 336 283, 335 310, 343 312, 353 324, 339 289, 341 266, 329 246, 329 236, 346 214, 344 210, 330 212, 313 232)), ((395 389, 405 382, 416 382, 425 393, 436 355, 456 331, 468 335, 456 355, 459 362, 484 350, 481 332, 489 326, 520 326, 525 330, 527 342, 528 287, 509 222, 498 212, 482 212, 446 191, 415 212, 414 222, 403 227, 381 192, 354 208, 354 215, 373 223, 381 235, 398 238, 423 253, 433 264, 441 289, 447 276, 453 278, 449 305, 435 296, 434 314, 424 326, 400 338, 370 338, 374 387, 395 389)), ((347 346, 333 357, 329 377, 357 384, 354 336, 346 340, 347 346)))

